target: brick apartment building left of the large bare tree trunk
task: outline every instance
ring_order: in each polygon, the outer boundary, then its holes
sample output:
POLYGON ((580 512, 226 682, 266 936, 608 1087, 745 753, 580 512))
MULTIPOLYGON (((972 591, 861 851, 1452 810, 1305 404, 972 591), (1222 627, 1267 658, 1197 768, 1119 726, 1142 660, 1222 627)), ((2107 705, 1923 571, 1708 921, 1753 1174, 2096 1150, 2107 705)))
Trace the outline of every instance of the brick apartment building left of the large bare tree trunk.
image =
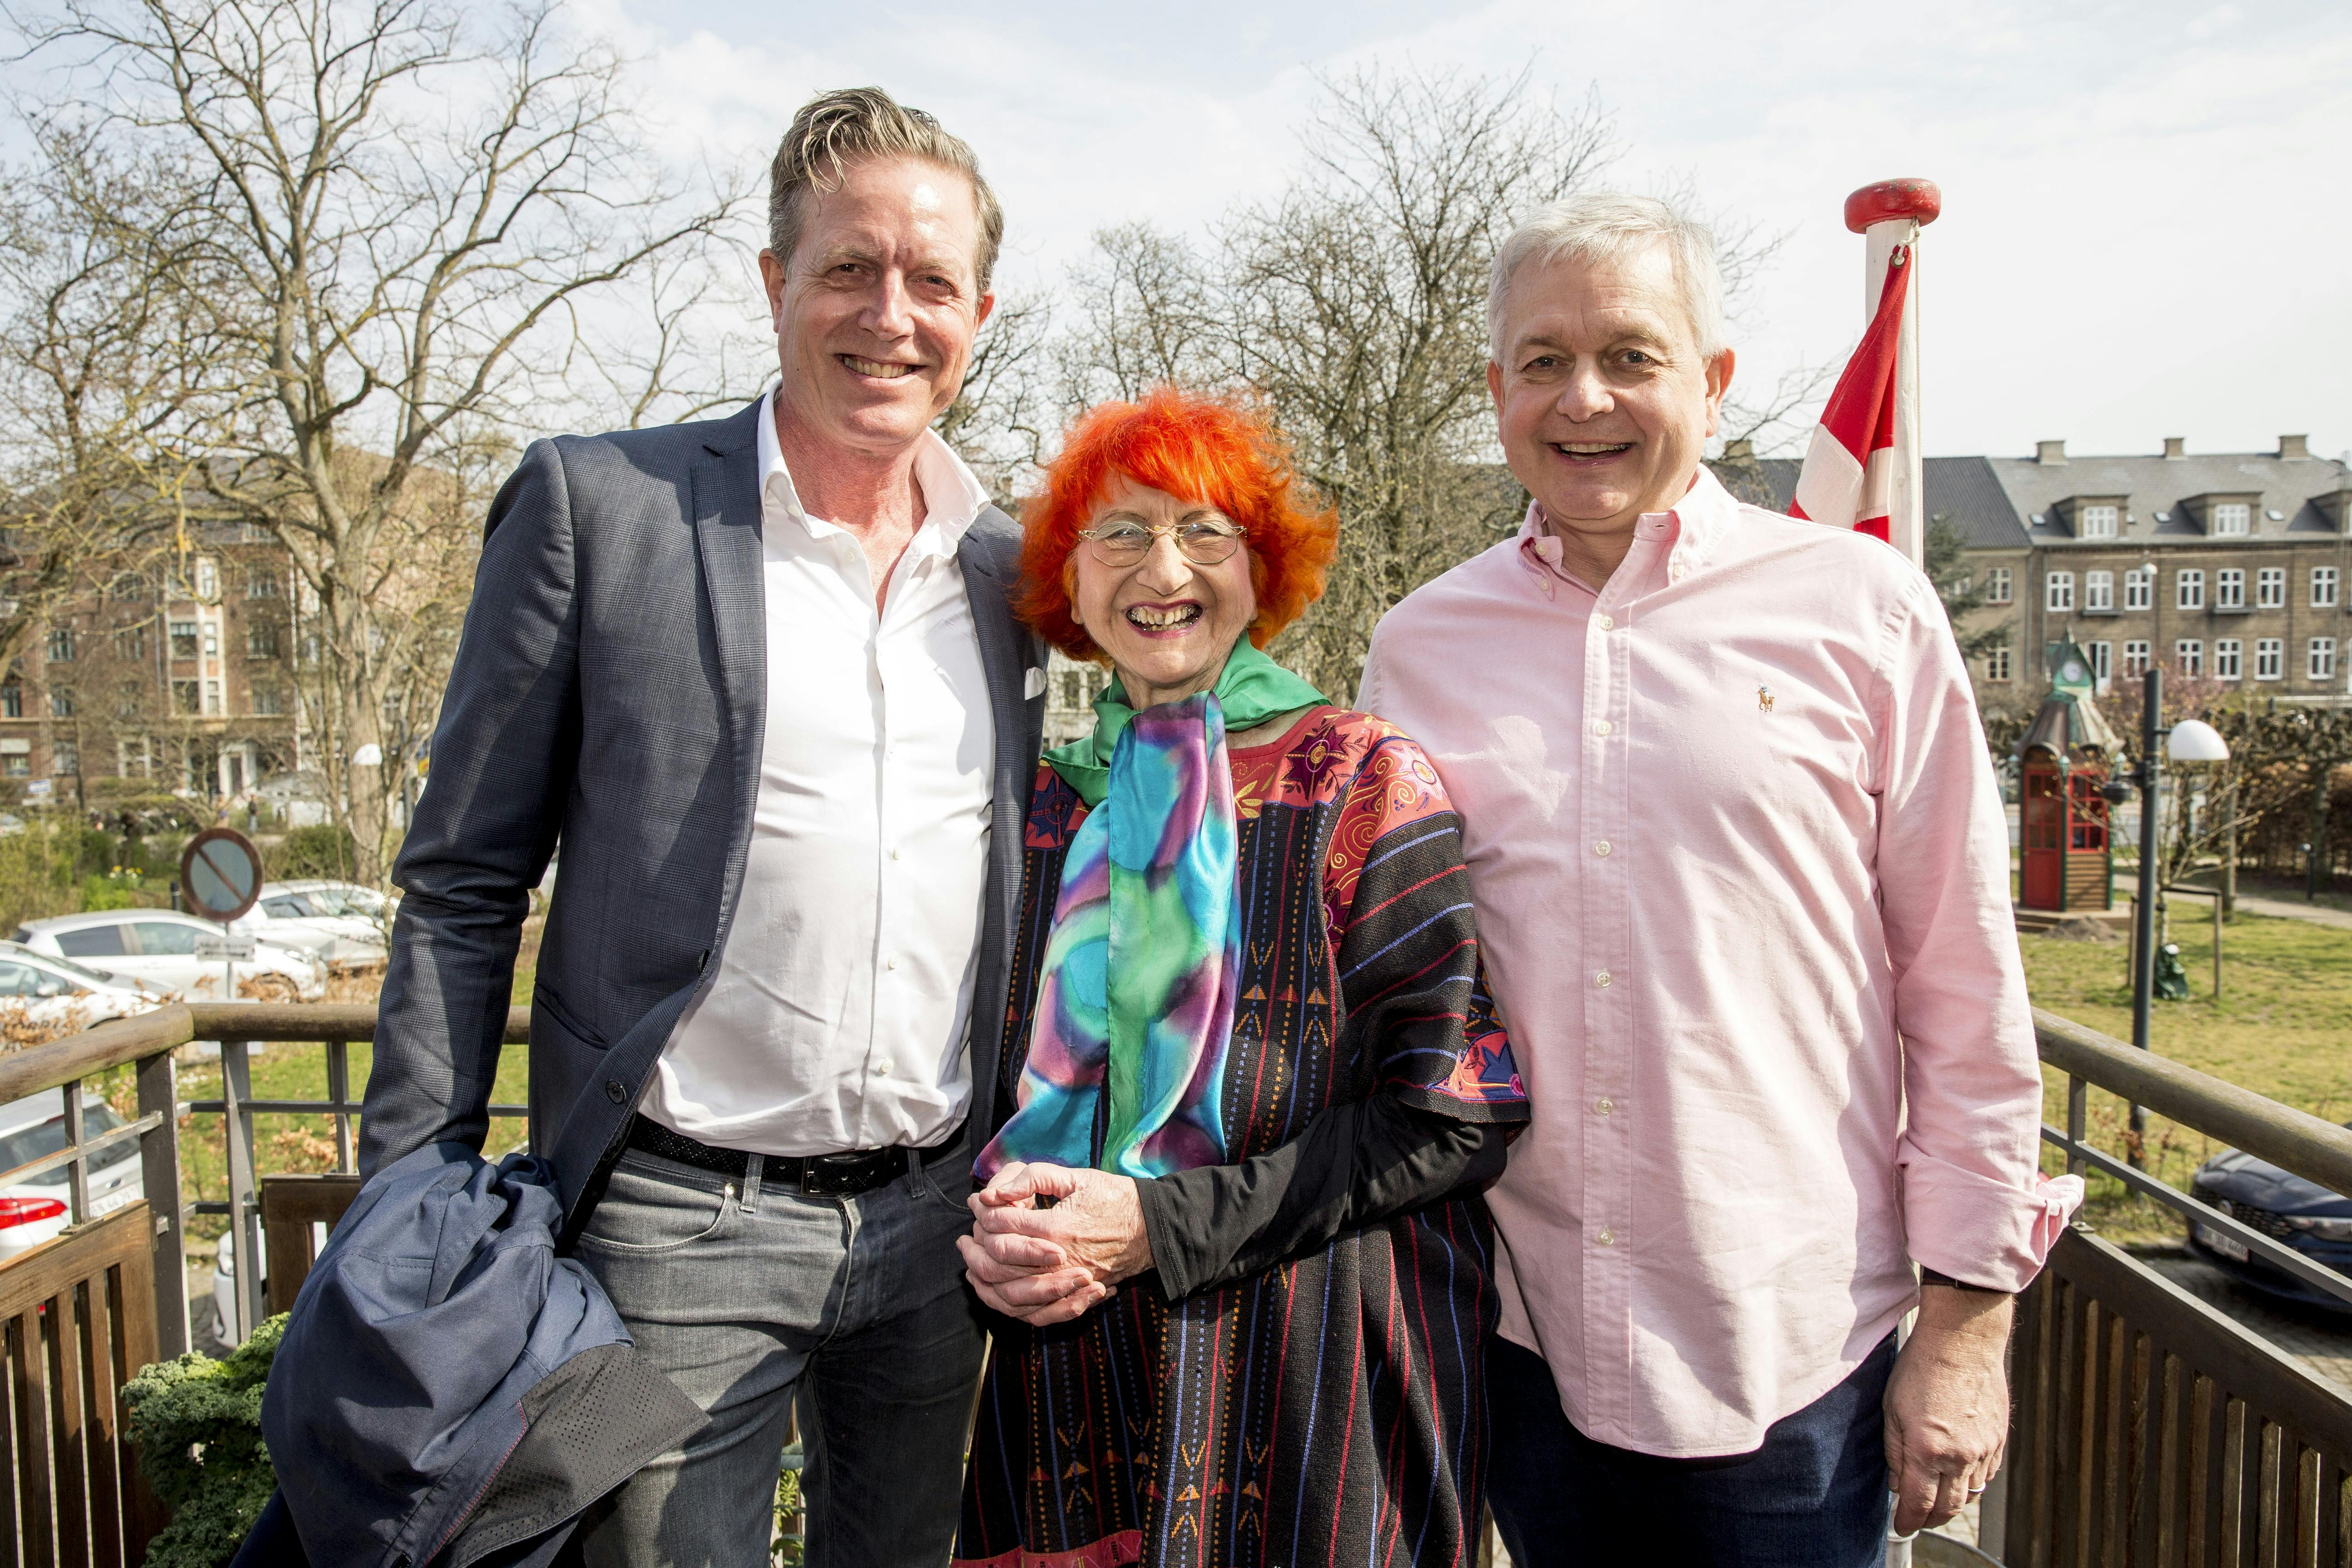
POLYGON ((261 534, 89 574, 0 672, 0 799, 73 802, 101 778, 226 799, 299 764, 299 585, 261 534))

